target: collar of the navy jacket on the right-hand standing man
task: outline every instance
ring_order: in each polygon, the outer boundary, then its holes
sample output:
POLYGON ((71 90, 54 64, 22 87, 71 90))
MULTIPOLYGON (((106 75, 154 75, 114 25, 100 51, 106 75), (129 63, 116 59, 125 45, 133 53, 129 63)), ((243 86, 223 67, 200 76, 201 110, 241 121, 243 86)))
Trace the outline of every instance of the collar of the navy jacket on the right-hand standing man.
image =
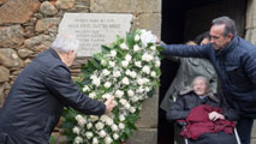
POLYGON ((238 37, 235 36, 231 39, 231 41, 225 47, 223 47, 222 49, 216 52, 216 56, 220 57, 220 56, 226 55, 228 52, 235 49, 235 46, 237 44, 238 44, 238 37))

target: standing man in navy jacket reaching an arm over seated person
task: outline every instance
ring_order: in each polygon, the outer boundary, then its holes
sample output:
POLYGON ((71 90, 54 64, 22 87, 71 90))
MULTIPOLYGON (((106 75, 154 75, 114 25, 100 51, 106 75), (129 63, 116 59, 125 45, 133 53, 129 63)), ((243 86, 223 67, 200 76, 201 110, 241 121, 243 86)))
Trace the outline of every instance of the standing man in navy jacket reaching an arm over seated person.
POLYGON ((249 144, 256 118, 256 48, 236 35, 228 17, 212 21, 211 43, 203 46, 164 45, 162 54, 208 58, 214 66, 228 104, 240 113, 237 129, 243 144, 249 144))

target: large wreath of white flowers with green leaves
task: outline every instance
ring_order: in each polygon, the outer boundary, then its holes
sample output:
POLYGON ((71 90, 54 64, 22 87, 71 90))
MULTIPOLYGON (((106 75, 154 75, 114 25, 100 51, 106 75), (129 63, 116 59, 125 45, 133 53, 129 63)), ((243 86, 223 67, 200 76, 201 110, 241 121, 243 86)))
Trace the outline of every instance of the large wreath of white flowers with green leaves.
MULTIPOLYGON (((101 70, 90 75, 91 84, 82 91, 92 99, 106 101, 115 96, 115 112, 110 115, 75 117, 77 124, 73 133, 74 143, 106 143, 118 140, 129 125, 131 115, 138 115, 141 102, 148 98, 148 92, 158 86, 160 58, 156 49, 156 36, 150 31, 136 31, 132 45, 128 41, 114 42, 106 54, 99 54, 101 70)), ((131 129, 131 128, 130 128, 131 129)))

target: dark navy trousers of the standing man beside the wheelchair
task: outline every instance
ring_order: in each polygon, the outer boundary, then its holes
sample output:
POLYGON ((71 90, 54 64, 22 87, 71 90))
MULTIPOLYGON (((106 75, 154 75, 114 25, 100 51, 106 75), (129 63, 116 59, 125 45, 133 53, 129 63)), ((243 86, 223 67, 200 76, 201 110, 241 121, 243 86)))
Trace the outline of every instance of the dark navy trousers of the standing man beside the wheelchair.
POLYGON ((251 143, 252 125, 253 125, 253 118, 241 117, 238 120, 236 128, 242 144, 251 143))

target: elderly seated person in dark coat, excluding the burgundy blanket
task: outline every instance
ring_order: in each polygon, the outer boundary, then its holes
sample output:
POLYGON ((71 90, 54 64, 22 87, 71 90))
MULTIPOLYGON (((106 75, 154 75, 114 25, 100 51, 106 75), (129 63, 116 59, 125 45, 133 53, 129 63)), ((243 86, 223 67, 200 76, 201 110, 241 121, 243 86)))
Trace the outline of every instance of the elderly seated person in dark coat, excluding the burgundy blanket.
MULTIPOLYGON (((205 77, 196 77, 192 82, 192 87, 187 87, 184 91, 180 92, 180 95, 177 97, 177 101, 174 102, 171 108, 166 113, 166 118, 169 121, 172 120, 185 120, 188 116, 191 115, 191 111, 197 106, 211 106, 211 108, 221 108, 222 112, 212 111, 207 115, 207 120, 209 121, 218 121, 220 120, 237 120, 238 116, 236 112, 230 109, 224 100, 220 97, 213 95, 209 90, 209 82, 205 77)), ((197 113, 198 115, 199 113, 197 113)), ((198 115, 198 119, 201 116, 198 115)), ((204 125, 201 125, 203 127, 204 125)), ((199 129, 198 129, 199 131, 199 129)), ((197 132, 196 132, 197 133, 197 132)), ((223 131, 218 133, 203 133, 200 134, 196 139, 188 139, 189 143, 196 144, 211 144, 211 143, 236 143, 236 138, 234 134, 227 134, 223 131)))

